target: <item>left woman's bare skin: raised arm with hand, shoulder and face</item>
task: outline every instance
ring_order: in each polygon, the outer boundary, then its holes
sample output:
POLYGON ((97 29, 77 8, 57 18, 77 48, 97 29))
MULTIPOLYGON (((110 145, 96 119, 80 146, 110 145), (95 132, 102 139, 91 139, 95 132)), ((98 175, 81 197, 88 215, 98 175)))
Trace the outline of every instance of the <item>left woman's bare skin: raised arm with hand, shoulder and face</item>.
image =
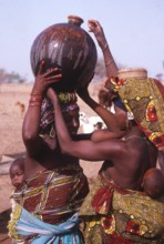
MULTIPOLYGON (((39 73, 31 93, 45 96, 48 87, 60 81, 59 69, 54 68, 47 73, 42 73, 44 62, 41 63, 39 73), (55 74, 57 72, 57 74, 55 74)), ((79 109, 64 112, 64 119, 72 135, 79 129, 79 109)), ((25 155, 25 179, 32 177, 38 172, 44 170, 64 167, 69 162, 79 160, 70 155, 62 155, 57 138, 51 139, 48 134, 40 136, 41 103, 29 105, 22 128, 23 142, 27 149, 25 155), (62 164, 61 164, 62 162, 62 164)))

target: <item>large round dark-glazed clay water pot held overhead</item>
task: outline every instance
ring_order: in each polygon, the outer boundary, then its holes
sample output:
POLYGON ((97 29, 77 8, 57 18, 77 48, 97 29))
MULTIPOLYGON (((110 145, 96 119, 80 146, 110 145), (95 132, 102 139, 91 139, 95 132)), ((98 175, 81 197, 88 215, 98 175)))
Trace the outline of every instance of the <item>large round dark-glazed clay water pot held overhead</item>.
POLYGON ((96 64, 98 53, 90 34, 81 28, 80 17, 69 16, 68 23, 57 23, 43 30, 31 47, 31 68, 37 75, 42 60, 44 71, 62 69, 57 91, 74 91, 89 83, 96 64))

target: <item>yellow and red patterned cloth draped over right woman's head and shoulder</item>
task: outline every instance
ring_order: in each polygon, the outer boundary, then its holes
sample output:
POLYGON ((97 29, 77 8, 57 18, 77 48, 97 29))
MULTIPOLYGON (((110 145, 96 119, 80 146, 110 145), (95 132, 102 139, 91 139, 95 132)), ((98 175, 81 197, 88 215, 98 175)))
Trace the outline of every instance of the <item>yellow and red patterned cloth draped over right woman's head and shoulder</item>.
POLYGON ((127 111, 158 150, 164 150, 164 88, 155 79, 112 78, 105 87, 119 92, 127 111))

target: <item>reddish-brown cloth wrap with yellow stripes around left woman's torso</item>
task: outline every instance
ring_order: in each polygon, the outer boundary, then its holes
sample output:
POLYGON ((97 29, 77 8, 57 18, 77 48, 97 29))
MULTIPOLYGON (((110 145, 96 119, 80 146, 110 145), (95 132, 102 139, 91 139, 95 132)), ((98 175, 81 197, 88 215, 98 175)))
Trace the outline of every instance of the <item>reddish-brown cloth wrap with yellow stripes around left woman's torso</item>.
POLYGON ((13 203, 19 203, 20 207, 18 204, 13 206, 8 225, 9 235, 17 238, 16 224, 21 207, 44 223, 59 225, 80 210, 88 193, 86 176, 76 163, 35 174, 25 181, 20 191, 13 193, 13 203))

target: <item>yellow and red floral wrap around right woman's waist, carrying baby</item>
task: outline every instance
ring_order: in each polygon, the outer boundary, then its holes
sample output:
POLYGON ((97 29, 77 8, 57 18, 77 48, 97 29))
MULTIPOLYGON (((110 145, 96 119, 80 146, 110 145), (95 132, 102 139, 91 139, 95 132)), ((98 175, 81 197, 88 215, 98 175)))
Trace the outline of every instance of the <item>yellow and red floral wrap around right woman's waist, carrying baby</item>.
POLYGON ((152 200, 142 192, 119 189, 99 175, 79 213, 85 222, 85 244, 164 243, 164 196, 152 200), (112 192, 107 205, 109 190, 112 192), (98 194, 99 193, 99 194, 98 194), (95 196, 101 209, 95 209, 95 196), (102 201, 104 200, 104 201, 102 201), (109 212, 106 212, 109 210, 109 212))

